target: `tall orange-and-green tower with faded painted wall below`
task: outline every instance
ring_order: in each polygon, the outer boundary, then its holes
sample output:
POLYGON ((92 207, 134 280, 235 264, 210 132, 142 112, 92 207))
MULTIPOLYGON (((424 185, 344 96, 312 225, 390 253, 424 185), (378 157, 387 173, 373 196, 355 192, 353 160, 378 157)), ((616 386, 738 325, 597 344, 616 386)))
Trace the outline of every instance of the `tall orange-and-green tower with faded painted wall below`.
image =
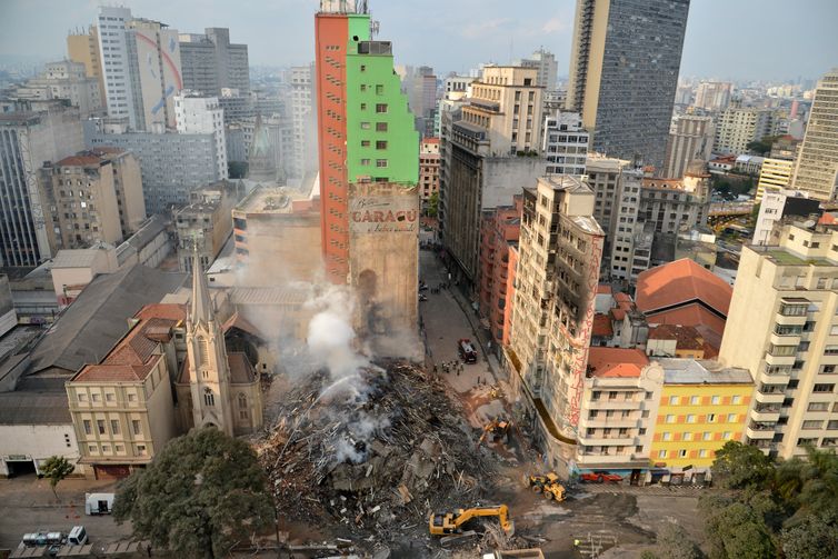
POLYGON ((419 134, 372 40, 366 2, 320 2, 316 24, 322 249, 327 277, 358 288, 363 332, 417 320, 419 134))

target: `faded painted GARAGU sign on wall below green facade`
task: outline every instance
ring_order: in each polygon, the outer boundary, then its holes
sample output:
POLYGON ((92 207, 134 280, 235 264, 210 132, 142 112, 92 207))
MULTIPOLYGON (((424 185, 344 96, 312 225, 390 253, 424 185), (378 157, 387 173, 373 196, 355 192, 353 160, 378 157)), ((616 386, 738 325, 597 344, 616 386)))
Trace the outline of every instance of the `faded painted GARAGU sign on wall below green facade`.
POLYGON ((369 196, 349 201, 349 227, 356 233, 416 233, 418 200, 407 196, 369 196))

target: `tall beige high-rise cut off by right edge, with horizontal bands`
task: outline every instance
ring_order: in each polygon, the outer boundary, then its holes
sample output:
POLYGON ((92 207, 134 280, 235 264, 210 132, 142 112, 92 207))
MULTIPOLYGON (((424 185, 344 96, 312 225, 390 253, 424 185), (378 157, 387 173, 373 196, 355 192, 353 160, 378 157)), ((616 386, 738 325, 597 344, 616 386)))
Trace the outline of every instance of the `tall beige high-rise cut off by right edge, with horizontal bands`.
POLYGON ((838 68, 824 76, 815 89, 791 184, 816 200, 838 197, 838 68))

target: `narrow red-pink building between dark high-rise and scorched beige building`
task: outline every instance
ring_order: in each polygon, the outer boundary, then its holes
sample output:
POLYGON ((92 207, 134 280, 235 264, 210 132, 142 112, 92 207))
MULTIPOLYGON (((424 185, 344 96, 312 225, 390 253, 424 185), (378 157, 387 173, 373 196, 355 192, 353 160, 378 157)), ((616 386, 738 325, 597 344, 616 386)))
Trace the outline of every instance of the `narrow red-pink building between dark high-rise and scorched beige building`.
POLYGON ((515 197, 513 206, 483 212, 480 233, 480 317, 491 331, 496 347, 507 332, 506 309, 509 295, 509 248, 518 243, 523 200, 515 197))

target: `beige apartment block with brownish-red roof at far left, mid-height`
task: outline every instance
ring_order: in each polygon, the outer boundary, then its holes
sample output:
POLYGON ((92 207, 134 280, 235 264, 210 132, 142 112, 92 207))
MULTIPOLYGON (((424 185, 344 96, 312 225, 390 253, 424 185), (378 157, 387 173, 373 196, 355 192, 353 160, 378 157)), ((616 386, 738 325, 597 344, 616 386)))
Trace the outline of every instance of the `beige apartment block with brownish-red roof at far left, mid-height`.
POLYGON ((146 219, 140 168, 130 152, 82 151, 43 173, 58 249, 118 244, 146 219))

